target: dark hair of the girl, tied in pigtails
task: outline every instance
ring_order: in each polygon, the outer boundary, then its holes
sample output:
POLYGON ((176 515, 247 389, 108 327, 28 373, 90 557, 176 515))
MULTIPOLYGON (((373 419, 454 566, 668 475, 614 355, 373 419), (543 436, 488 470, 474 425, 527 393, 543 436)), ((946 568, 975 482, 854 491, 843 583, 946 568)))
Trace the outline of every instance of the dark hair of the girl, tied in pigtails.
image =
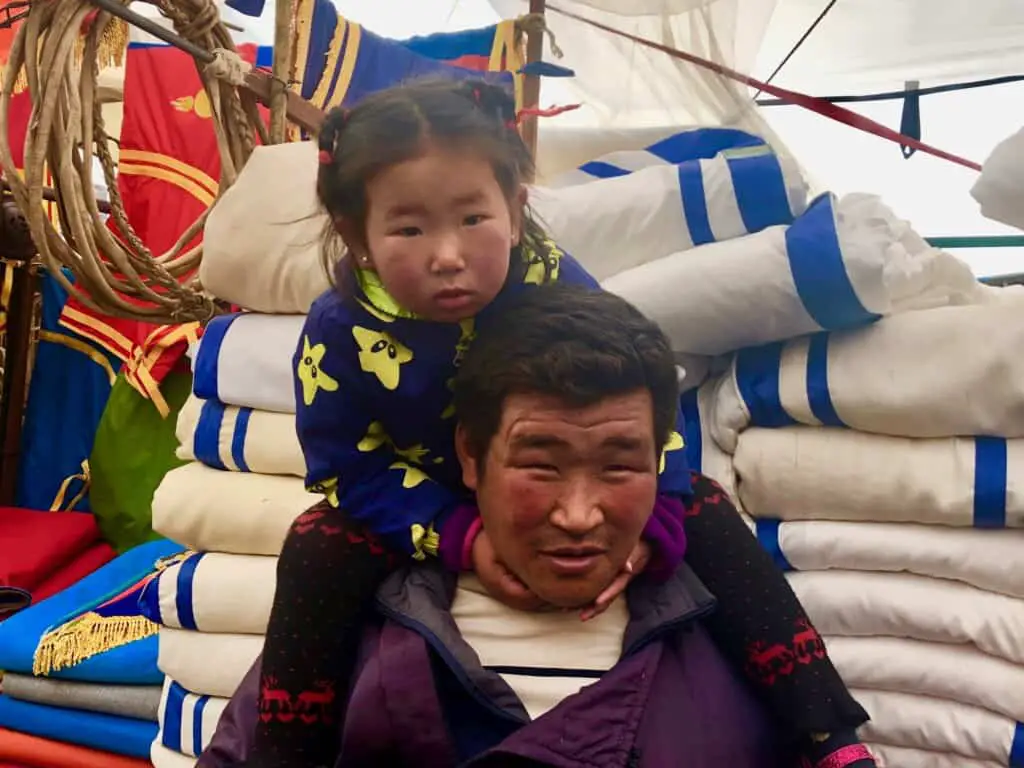
MULTIPOLYGON (((316 195, 331 217, 324 239, 324 267, 343 296, 350 297, 355 284, 349 249, 335 222, 348 222, 349 238, 364 239, 351 245, 365 248, 368 182, 386 168, 417 157, 429 141, 483 153, 510 202, 532 177, 534 159, 516 128, 515 99, 501 85, 430 78, 373 93, 351 110, 332 110, 319 133, 316 195)), ((546 242, 544 229, 528 208, 523 210, 510 281, 521 280, 529 266, 527 249, 550 271, 546 242)))

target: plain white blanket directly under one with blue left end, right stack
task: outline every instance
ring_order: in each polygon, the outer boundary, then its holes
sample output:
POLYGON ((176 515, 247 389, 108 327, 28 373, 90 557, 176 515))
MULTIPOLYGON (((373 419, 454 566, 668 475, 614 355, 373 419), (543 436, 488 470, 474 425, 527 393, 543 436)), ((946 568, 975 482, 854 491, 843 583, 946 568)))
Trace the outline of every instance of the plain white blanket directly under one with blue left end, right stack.
POLYGON ((1024 665, 1024 600, 1019 598, 911 573, 805 570, 787 578, 823 635, 967 643, 1024 665))

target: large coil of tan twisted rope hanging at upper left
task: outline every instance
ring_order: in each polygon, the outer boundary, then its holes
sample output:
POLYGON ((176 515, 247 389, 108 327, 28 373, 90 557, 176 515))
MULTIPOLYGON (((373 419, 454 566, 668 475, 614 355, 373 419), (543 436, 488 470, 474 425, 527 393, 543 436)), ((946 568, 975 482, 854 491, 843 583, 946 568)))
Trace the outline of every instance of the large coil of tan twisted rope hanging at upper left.
MULTIPOLYGON (((236 51, 212 0, 155 4, 180 36, 214 53, 213 61, 199 72, 210 97, 220 153, 219 200, 252 155, 257 134, 267 140, 255 97, 236 87, 249 66, 236 51)), ((116 23, 110 13, 97 12, 85 33, 81 65, 75 55, 82 25, 94 10, 88 0, 32 4, 11 46, 0 91, 0 166, 43 265, 72 291, 61 267, 70 269, 75 295, 86 305, 106 315, 150 323, 205 322, 218 307, 191 276, 202 246, 186 246, 202 231, 209 211, 161 255, 154 255, 128 222, 97 99, 97 51, 104 29, 116 23), (28 81, 33 104, 24 177, 15 170, 8 138, 11 97, 19 77, 28 81), (92 185, 93 151, 110 190, 111 215, 125 243, 102 222, 92 185), (59 230, 43 208, 47 169, 57 191, 59 230)))

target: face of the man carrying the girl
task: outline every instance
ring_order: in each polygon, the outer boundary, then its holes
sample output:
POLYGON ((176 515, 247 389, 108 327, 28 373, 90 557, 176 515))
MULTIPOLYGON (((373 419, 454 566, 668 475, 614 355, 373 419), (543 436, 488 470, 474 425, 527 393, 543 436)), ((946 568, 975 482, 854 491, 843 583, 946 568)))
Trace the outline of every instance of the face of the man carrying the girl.
POLYGON ((484 466, 457 438, 499 558, 543 600, 592 602, 626 564, 657 493, 657 453, 646 390, 568 408, 513 395, 484 466))

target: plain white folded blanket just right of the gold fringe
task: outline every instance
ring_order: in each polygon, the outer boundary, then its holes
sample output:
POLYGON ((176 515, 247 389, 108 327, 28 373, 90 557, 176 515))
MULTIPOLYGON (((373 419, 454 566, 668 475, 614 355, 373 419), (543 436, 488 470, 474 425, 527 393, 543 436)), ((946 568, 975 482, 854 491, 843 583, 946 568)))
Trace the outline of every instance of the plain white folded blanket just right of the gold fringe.
POLYGON ((193 693, 230 698, 263 651, 258 635, 213 635, 160 628, 157 666, 193 693))

